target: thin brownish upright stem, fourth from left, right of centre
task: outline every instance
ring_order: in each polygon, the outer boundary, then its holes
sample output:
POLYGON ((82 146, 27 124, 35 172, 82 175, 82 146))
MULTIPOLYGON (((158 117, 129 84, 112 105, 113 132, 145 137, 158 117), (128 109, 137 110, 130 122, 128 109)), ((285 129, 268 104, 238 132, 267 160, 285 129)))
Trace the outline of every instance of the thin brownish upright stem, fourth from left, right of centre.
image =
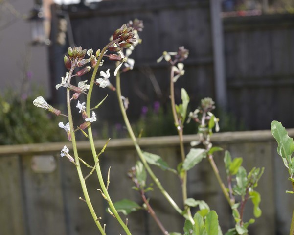
MULTIPOLYGON (((174 91, 174 73, 172 69, 170 69, 170 99, 171 99, 171 107, 172 107, 172 113, 173 113, 173 118, 175 122, 175 126, 177 128, 178 136, 179 136, 179 141, 180 141, 180 151, 181 151, 181 161, 184 162, 186 155, 185 155, 185 149, 184 149, 184 141, 183 141, 183 126, 179 122, 179 118, 177 115, 176 111, 176 102, 175 102, 175 91, 174 91)), ((183 198, 183 203, 185 203, 187 199, 187 171, 184 171, 184 174, 182 176, 182 182, 181 182, 181 188, 182 188, 182 198, 183 198)), ((189 207, 187 207, 187 213, 190 218, 190 221, 192 224, 194 224, 194 220, 191 215, 191 210, 189 207)))

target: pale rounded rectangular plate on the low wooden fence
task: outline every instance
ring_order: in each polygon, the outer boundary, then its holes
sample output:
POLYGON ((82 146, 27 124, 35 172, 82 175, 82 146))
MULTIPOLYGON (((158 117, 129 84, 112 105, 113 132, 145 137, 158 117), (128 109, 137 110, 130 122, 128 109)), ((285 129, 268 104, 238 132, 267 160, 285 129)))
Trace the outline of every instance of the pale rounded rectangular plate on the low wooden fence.
POLYGON ((56 169, 56 160, 53 155, 35 155, 31 168, 35 173, 51 173, 56 169))

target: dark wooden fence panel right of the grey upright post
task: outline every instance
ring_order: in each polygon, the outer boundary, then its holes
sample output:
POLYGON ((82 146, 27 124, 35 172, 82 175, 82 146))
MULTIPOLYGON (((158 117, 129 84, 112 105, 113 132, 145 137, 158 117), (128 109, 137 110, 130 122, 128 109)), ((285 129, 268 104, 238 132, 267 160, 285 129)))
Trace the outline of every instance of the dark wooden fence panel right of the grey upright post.
POLYGON ((248 129, 293 126, 294 18, 224 19, 228 104, 248 129))

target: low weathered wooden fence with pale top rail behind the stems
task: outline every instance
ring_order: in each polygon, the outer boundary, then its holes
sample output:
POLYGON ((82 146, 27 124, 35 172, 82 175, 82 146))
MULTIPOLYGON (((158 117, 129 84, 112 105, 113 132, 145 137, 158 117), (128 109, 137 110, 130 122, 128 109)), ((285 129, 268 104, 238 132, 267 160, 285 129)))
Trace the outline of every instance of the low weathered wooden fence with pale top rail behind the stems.
MULTIPOLYGON (((294 136, 294 129, 289 130, 294 136)), ((197 136, 185 136, 186 152, 189 142, 197 136)), ((253 166, 265 167, 257 191, 261 194, 263 214, 250 226, 250 235, 289 234, 291 215, 294 208, 293 195, 287 180, 288 172, 276 152, 276 143, 270 131, 227 132, 215 134, 215 145, 228 149, 233 157, 243 157, 249 171, 253 166)), ((105 141, 96 141, 99 150, 105 141)), ((79 200, 83 197, 77 172, 73 164, 60 157, 60 150, 68 142, 31 145, 0 146, 0 234, 1 235, 94 235, 97 228, 92 221, 87 205, 79 200)), ((179 163, 178 138, 160 137, 140 140, 141 147, 156 153, 172 167, 179 163)), ((79 142, 80 156, 92 164, 88 142, 79 142)), ((71 149, 71 147, 69 146, 71 149)), ((221 176, 225 179, 224 153, 215 156, 221 176)), ((101 156, 104 177, 111 166, 109 192, 113 201, 130 198, 138 203, 141 199, 126 172, 137 160, 136 151, 129 139, 111 140, 101 156)), ((89 168, 83 168, 85 174, 89 168)), ((154 168, 166 190, 181 205, 179 180, 170 172, 154 168)), ((106 212, 106 202, 97 191, 95 175, 87 180, 94 208, 102 223, 106 223, 109 235, 120 234, 115 219, 106 212)), ((155 188, 149 192, 150 203, 168 231, 182 232, 183 220, 155 188)), ((217 184, 213 171, 204 160, 189 171, 188 197, 205 200, 219 214, 225 232, 233 225, 229 206, 217 184)), ((249 203, 250 204, 250 203, 249 203)), ((248 205, 249 208, 251 205, 248 205)), ((251 207, 252 209, 252 207, 251 207)), ((250 210, 245 218, 252 217, 250 210)), ((160 231, 147 212, 138 211, 128 216, 133 235, 159 235, 160 231)))

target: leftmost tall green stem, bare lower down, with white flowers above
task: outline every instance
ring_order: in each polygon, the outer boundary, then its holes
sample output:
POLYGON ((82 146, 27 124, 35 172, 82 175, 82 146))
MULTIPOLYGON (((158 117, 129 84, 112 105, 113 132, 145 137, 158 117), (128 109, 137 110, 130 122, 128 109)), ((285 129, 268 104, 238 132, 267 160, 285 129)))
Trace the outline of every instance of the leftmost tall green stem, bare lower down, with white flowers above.
MULTIPOLYGON (((71 75, 72 75, 72 72, 73 72, 73 68, 70 69, 69 71, 69 83, 70 83, 70 78, 71 78, 71 75)), ((67 108, 68 108, 68 122, 69 122, 69 126, 70 126, 70 132, 71 132, 71 141, 72 141, 72 146, 73 146, 73 153, 74 153, 74 158, 75 158, 75 163, 76 163, 76 169, 77 169, 77 172, 78 172, 78 176, 79 176, 79 179, 80 179, 80 183, 81 183, 81 186, 82 186, 82 190, 83 190, 83 193, 84 193, 84 197, 85 197, 85 201, 87 203, 87 206, 90 210, 90 213, 100 231, 100 233, 102 235, 106 235, 103 227, 101 226, 100 222, 99 222, 99 219, 94 211, 94 208, 92 206, 92 203, 91 203, 91 200, 90 200, 90 197, 89 197, 89 193, 88 193, 88 190, 87 190, 87 186, 86 186, 86 183, 85 183, 85 180, 84 180, 84 177, 83 177, 83 173, 82 173, 82 169, 81 169, 81 165, 79 163, 79 156, 78 156, 78 150, 77 150, 77 144, 76 144, 76 140, 75 140, 75 133, 74 133, 74 128, 73 128, 73 120, 72 120, 72 113, 71 113, 71 107, 70 107, 70 90, 67 89, 67 108)))

